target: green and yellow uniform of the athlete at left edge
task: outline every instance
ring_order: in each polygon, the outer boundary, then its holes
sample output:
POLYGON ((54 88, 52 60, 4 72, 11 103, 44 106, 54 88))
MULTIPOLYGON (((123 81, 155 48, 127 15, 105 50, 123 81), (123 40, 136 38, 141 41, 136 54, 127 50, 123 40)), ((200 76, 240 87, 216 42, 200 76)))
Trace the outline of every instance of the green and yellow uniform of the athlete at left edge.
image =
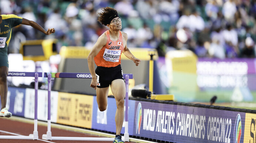
POLYGON ((12 35, 12 28, 22 23, 22 17, 14 14, 1 15, 0 24, 0 66, 9 67, 7 48, 12 35))

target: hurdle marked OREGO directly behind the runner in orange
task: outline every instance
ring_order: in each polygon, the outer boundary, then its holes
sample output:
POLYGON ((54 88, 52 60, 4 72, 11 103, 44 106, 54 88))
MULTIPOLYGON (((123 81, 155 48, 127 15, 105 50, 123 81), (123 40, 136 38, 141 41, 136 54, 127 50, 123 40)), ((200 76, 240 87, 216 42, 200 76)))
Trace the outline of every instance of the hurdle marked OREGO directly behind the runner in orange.
MULTIPOLYGON (((50 117, 50 111, 51 111, 51 104, 50 104, 50 97, 51 97, 51 81, 52 77, 55 78, 80 78, 81 76, 77 75, 83 75, 82 78, 85 79, 91 79, 92 76, 90 73, 43 73, 43 77, 47 77, 48 81, 48 118, 47 118, 47 132, 46 134, 42 135, 42 139, 44 140, 83 140, 83 141, 113 141, 114 138, 111 137, 63 137, 63 136, 52 136, 51 132, 51 117, 50 117)), ((125 88, 126 88, 126 94, 125 94, 125 133, 124 133, 124 141, 129 142, 129 133, 128 133, 128 86, 129 86, 129 79, 133 78, 132 74, 124 74, 125 76, 125 88)))

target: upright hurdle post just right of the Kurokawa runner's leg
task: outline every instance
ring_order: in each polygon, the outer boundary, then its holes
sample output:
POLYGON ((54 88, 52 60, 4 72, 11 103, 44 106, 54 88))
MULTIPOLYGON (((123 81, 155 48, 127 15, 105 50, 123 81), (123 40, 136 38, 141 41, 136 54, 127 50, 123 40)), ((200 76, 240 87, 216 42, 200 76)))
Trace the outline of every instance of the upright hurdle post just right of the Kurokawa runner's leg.
POLYGON ((129 91, 129 76, 126 75, 125 76, 125 132, 124 132, 124 141, 125 142, 129 142, 129 133, 128 133, 128 110, 129 110, 129 104, 128 104, 128 100, 129 100, 129 95, 128 95, 128 91, 129 91))

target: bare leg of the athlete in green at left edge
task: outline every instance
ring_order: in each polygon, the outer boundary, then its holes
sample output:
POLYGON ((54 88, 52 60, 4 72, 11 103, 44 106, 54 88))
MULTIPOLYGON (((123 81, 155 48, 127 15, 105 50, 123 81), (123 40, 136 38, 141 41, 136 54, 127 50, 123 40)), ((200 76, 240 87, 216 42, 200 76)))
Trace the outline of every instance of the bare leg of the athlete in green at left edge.
POLYGON ((9 68, 6 66, 0 67, 0 96, 1 96, 1 109, 6 107, 7 102, 7 75, 9 68))

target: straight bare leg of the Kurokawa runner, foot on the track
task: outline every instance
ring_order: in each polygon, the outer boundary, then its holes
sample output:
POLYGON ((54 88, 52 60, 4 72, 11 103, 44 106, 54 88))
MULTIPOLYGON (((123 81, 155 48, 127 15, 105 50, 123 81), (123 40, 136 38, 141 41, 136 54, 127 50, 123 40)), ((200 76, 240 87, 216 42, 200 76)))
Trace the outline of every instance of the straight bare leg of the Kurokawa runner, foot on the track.
POLYGON ((120 135, 122 125, 124 122, 124 97, 125 97, 125 83, 122 79, 113 80, 111 85, 111 91, 116 100, 116 114, 115 114, 115 124, 116 124, 116 135, 120 135))

